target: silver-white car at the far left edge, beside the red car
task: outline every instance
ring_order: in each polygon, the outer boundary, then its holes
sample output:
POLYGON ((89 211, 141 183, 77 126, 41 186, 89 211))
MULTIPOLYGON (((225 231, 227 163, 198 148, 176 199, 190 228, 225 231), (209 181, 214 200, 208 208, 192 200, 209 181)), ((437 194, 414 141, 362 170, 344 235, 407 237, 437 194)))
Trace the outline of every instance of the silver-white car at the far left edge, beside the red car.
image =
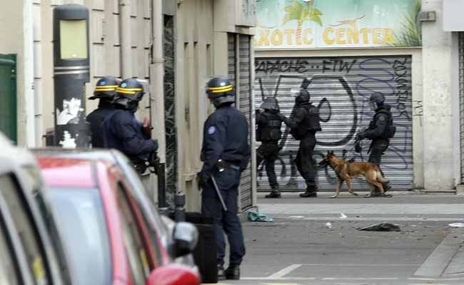
POLYGON ((0 284, 70 284, 39 210, 34 155, 1 133, 0 148, 0 284))

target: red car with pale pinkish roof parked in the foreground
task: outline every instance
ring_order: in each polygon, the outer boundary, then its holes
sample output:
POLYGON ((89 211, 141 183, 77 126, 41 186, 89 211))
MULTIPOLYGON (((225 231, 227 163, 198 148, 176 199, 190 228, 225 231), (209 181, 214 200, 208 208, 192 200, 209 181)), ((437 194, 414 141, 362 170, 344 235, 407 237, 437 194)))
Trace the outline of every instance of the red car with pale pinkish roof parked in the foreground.
MULTIPOLYGON (((148 227, 119 167, 64 157, 39 156, 38 162, 72 284, 200 284, 198 271, 174 264, 148 227)), ((178 252, 193 249, 191 224, 178 223, 174 235, 178 252)))

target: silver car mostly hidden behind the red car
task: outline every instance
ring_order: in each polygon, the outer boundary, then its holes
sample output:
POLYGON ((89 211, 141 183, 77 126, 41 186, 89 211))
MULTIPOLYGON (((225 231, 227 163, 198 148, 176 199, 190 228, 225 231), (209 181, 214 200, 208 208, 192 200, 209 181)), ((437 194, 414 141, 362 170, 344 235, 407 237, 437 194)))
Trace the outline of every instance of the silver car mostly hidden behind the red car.
POLYGON ((110 165, 116 165, 123 172, 126 182, 128 183, 128 191, 133 195, 138 207, 140 207, 143 215, 146 217, 148 224, 153 228, 153 231, 158 233, 163 247, 168 249, 168 254, 171 259, 176 260, 179 264, 191 266, 197 270, 197 266, 193 261, 192 254, 180 255, 176 248, 176 241, 173 239, 174 229, 176 224, 168 217, 161 216, 156 209, 156 206, 151 202, 151 197, 143 186, 140 177, 133 169, 132 163, 128 158, 118 150, 73 150, 63 149, 58 147, 49 147, 32 150, 39 157, 66 157, 74 159, 84 159, 92 161, 104 161, 110 165))

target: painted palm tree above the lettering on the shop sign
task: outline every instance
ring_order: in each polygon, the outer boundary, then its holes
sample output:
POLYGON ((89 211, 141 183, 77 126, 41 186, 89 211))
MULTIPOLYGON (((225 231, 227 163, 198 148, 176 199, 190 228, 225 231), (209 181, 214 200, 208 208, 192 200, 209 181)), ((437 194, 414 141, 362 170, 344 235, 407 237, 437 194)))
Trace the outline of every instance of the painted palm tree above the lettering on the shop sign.
POLYGON ((287 24, 289 21, 296 21, 298 24, 296 28, 297 41, 301 41, 301 29, 305 21, 313 21, 322 26, 322 12, 314 8, 313 5, 313 1, 301 3, 298 0, 293 0, 291 6, 286 6, 284 9, 287 14, 283 17, 283 25, 287 24))

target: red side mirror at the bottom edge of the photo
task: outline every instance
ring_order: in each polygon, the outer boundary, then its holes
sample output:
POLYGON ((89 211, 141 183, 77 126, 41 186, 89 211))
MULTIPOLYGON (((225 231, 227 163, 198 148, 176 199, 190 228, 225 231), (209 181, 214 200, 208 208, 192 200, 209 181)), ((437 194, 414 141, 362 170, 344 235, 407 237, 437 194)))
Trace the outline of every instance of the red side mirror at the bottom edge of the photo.
POLYGON ((146 285, 199 285, 197 271, 181 264, 168 264, 151 272, 146 285))

